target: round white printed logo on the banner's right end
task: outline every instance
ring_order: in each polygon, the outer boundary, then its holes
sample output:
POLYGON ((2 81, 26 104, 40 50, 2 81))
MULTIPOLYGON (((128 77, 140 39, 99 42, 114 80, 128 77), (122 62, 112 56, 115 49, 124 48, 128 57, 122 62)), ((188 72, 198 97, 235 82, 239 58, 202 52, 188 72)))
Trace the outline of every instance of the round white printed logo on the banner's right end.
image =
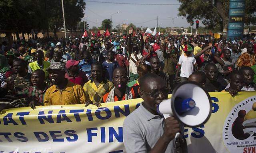
POLYGON ((256 151, 256 96, 232 108, 224 122, 222 140, 230 153, 256 151))

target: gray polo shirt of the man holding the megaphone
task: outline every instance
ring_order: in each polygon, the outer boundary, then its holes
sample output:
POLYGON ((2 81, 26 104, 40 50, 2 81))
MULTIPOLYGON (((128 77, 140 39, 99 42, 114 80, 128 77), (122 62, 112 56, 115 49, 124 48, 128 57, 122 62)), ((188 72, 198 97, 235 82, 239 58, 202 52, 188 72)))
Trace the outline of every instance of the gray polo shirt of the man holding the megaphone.
MULTIPOLYGON (((164 133, 164 118, 154 115, 142 104, 124 120, 124 146, 127 153, 147 153, 164 133)), ((170 141, 165 153, 174 152, 170 141)))

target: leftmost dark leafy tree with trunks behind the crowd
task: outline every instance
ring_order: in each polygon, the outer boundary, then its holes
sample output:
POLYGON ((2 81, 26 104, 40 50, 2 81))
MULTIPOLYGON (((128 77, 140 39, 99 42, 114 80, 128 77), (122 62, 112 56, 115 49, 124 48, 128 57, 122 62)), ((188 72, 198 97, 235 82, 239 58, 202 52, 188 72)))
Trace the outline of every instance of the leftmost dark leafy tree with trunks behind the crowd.
POLYGON ((16 33, 17 39, 19 33, 22 33, 25 39, 24 33, 30 33, 32 29, 34 31, 45 29, 46 16, 43 6, 44 3, 40 0, 0 1, 0 29, 8 31, 7 35, 16 33))

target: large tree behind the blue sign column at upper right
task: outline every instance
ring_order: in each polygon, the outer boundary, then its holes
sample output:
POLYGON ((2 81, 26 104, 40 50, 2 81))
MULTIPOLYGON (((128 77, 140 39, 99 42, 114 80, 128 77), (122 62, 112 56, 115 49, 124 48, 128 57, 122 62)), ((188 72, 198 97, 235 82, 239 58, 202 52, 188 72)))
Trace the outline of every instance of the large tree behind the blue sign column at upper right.
MULTIPOLYGON (((208 29, 219 26, 221 31, 228 28, 229 0, 179 0, 179 15, 188 23, 201 20, 208 29)), ((256 3, 246 0, 245 24, 256 24, 256 3)))

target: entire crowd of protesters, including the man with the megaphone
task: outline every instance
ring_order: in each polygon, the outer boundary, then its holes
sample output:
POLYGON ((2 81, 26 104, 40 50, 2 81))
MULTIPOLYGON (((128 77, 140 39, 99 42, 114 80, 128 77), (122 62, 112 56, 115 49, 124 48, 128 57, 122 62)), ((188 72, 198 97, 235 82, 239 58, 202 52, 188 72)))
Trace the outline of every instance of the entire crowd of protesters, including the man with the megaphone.
POLYGON ((104 102, 142 98, 142 106, 124 122, 125 139, 134 139, 124 141, 126 149, 135 152, 138 148, 153 150, 155 137, 160 137, 158 149, 172 141, 178 130, 174 118, 165 121, 170 126, 164 131, 148 133, 145 137, 152 139, 146 146, 136 132, 129 132, 140 128, 137 122, 161 128, 162 119, 155 118, 157 104, 178 83, 194 81, 207 92, 226 91, 232 96, 256 89, 253 34, 216 40, 212 35, 153 36, 134 31, 130 28, 127 34, 100 37, 30 38, 11 47, 2 42, 0 110, 66 104, 100 107, 104 102), (147 121, 155 120, 146 122, 143 115, 147 121), (168 138, 161 137, 163 132, 168 138))

